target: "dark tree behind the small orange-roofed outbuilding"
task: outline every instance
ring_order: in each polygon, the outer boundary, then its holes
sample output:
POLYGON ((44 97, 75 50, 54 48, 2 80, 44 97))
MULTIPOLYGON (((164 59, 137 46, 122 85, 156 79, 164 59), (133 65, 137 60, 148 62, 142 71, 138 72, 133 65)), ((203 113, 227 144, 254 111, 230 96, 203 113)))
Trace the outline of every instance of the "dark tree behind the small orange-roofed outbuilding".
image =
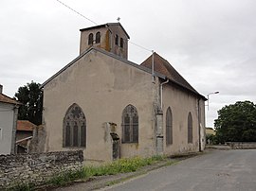
POLYGON ((31 81, 20 87, 15 98, 23 105, 19 108, 18 119, 28 120, 35 125, 42 123, 43 92, 40 84, 31 81))

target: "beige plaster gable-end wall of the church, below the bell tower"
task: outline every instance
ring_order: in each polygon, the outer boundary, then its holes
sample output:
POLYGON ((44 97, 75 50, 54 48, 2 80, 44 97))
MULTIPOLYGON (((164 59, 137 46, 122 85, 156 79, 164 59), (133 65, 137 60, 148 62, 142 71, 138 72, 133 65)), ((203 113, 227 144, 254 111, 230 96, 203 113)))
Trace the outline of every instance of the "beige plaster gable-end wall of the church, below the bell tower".
POLYGON ((138 113, 138 144, 121 144, 121 157, 155 154, 155 88, 149 73, 91 50, 44 87, 46 151, 63 148, 64 115, 77 103, 86 117, 85 160, 110 161, 105 122, 117 124, 121 138, 121 114, 132 104, 138 113))

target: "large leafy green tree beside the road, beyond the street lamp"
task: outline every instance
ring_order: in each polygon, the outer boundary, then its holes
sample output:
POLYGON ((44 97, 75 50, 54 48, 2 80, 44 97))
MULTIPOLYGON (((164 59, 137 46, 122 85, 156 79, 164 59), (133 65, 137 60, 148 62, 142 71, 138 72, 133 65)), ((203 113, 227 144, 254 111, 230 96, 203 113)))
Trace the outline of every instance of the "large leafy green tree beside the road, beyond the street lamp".
POLYGON ((238 101, 218 111, 214 121, 216 141, 256 142, 256 105, 250 101, 238 101))

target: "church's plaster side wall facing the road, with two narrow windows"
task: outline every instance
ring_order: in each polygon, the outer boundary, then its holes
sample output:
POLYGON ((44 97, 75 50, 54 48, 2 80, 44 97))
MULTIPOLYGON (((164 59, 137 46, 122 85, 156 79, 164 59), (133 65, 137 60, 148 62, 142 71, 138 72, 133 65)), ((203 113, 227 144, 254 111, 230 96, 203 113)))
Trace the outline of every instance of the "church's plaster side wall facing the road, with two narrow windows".
MULTIPOLYGON (((163 86, 163 131, 166 137, 166 112, 168 107, 173 113, 173 145, 166 146, 164 138, 164 152, 166 154, 178 154, 188 151, 199 150, 199 123, 198 123, 198 99, 188 92, 181 91, 174 85, 163 86), (188 144, 188 114, 192 113, 192 144, 188 144)), ((202 130, 204 130, 204 108, 201 109, 200 117, 202 130)), ((203 133, 203 132, 202 132, 203 133)))

